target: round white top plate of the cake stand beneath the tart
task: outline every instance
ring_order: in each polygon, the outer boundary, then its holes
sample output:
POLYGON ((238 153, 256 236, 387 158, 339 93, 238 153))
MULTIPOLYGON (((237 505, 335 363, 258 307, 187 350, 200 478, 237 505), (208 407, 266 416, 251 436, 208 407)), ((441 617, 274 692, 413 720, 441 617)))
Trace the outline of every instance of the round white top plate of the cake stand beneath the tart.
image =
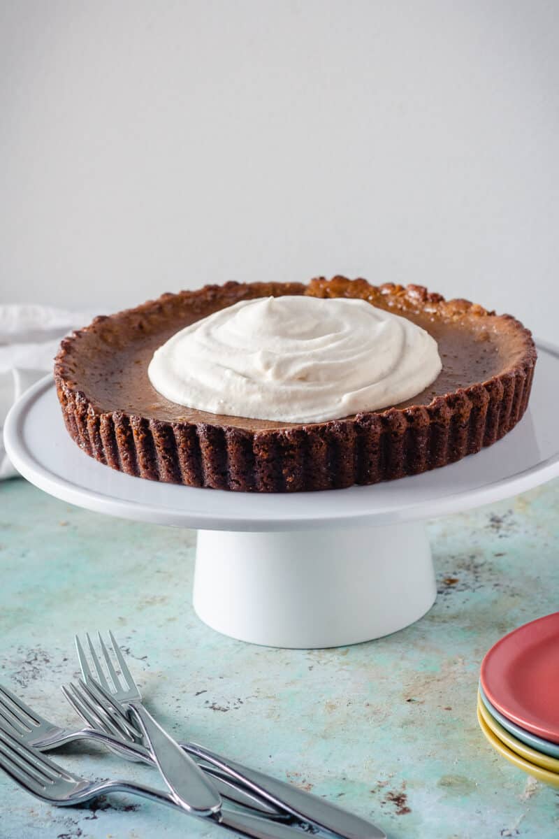
POLYGON ((559 350, 539 345, 531 407, 494 446, 414 477, 372 487, 257 494, 197 489, 115 472, 67 434, 52 379, 13 406, 5 425, 19 472, 57 498, 125 519, 220 530, 304 530, 414 521, 492 503, 559 475, 559 350))

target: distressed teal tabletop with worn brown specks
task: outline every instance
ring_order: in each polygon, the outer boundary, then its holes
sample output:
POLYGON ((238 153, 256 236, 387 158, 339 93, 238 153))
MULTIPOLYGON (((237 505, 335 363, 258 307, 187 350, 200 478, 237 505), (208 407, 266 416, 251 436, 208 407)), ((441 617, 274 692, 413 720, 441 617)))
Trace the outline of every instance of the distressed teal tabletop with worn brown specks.
MULTIPOLYGON (((266 649, 214 633, 190 602, 193 531, 134 524, 0 485, 0 680, 62 724, 72 637, 113 628, 148 706, 198 740, 369 816, 392 839, 559 836, 559 797, 499 758, 475 719, 479 664, 503 634, 559 607, 559 482, 430 525, 437 603, 370 644, 266 649)), ((343 560, 340 560, 343 561, 343 560)), ((94 747, 60 763, 154 782, 94 747)), ((217 839, 125 796, 43 805, 0 777, 2 839, 217 839)))

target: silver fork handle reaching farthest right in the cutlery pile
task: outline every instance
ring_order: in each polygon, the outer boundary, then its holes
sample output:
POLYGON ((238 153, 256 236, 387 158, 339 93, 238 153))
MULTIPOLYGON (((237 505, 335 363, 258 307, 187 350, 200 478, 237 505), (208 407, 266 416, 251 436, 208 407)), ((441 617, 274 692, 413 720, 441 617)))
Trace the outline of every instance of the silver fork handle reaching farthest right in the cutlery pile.
POLYGON ((198 743, 181 743, 181 745, 189 754, 196 755, 197 758, 219 767, 239 783, 245 784, 256 795, 261 795, 271 804, 282 807, 300 821, 336 833, 344 839, 386 839, 386 833, 372 822, 360 816, 354 816, 348 810, 330 804, 329 801, 305 792, 304 789, 298 789, 293 784, 287 784, 257 769, 249 769, 242 763, 222 758, 219 754, 199 746, 198 743))

